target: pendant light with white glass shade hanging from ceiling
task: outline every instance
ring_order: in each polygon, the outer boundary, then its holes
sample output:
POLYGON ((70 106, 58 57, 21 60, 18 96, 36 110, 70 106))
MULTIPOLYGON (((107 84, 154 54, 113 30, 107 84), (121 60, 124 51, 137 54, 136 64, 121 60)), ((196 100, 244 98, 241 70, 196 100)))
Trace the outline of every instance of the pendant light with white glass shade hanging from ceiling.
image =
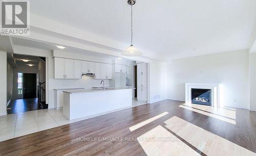
POLYGON ((136 3, 136 0, 128 0, 127 3, 131 6, 131 46, 126 48, 122 52, 122 55, 135 57, 142 55, 142 53, 133 46, 133 5, 136 3))

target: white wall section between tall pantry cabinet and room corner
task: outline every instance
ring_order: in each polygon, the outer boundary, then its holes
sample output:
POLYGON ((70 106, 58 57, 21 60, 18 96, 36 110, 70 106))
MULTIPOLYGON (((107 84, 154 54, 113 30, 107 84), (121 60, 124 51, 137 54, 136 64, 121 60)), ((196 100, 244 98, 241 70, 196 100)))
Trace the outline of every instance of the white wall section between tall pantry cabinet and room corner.
POLYGON ((167 99, 167 64, 161 62, 148 63, 148 100, 150 103, 167 99))

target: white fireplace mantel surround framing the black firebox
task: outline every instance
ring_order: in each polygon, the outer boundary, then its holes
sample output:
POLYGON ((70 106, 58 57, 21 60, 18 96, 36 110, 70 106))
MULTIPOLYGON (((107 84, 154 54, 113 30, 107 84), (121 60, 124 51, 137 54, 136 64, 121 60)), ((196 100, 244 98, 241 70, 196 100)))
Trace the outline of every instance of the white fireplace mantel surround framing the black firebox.
POLYGON ((219 99, 219 83, 186 83, 186 104, 192 103, 191 100, 191 89, 208 89, 211 90, 211 106, 220 107, 219 99))

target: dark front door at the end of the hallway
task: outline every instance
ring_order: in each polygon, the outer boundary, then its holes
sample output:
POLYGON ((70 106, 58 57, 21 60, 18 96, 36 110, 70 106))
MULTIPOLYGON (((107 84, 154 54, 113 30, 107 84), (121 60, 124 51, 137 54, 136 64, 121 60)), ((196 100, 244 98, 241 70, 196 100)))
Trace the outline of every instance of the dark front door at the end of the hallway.
POLYGON ((23 74, 23 98, 36 98, 36 74, 23 74))

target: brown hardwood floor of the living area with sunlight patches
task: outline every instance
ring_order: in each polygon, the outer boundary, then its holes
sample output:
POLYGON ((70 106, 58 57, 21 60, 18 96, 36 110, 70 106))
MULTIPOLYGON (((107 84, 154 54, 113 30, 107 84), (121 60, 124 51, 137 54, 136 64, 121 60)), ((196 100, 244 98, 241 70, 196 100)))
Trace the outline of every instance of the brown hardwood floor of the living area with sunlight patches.
MULTIPOLYGON (((208 151, 196 146, 196 143, 207 137, 207 139, 215 138, 212 139, 213 142, 221 141, 223 146, 225 144, 234 146, 233 152, 236 149, 242 149, 247 152, 252 151, 252 155, 255 154, 255 112, 230 109, 235 111, 233 120, 236 120, 236 123, 234 124, 217 119, 215 116, 198 113, 196 109, 193 111, 180 107, 183 103, 164 100, 145 104, 3 141, 0 142, 0 155, 157 155, 154 154, 156 151, 152 151, 155 146, 159 149, 161 146, 165 147, 168 155, 169 151, 177 149, 178 143, 179 147, 184 146, 183 151, 196 152, 193 154, 183 152, 183 155, 206 155, 208 151), (165 114, 156 118, 162 113, 165 114), (145 123, 146 120, 149 122, 145 123), (142 122, 145 124, 140 125, 142 122), (129 129, 137 124, 139 128, 133 131, 129 129), (173 146, 162 143, 156 145, 154 142, 145 143, 136 140, 136 138, 154 135, 154 131, 162 137, 177 138, 177 144, 173 142, 173 146), (189 133, 186 133, 187 131, 189 133)), ((203 111, 206 112, 206 110, 203 111)), ((210 112, 207 110, 207 113, 210 112)), ((222 117, 224 115, 221 114, 222 117)), ((205 146, 210 147, 207 143, 205 146)), ((222 147, 216 144, 215 149, 212 148, 212 150, 220 151, 219 148, 222 147)), ((225 154, 222 153, 222 155, 225 154)), ((236 153, 236 155, 240 154, 236 153)))

